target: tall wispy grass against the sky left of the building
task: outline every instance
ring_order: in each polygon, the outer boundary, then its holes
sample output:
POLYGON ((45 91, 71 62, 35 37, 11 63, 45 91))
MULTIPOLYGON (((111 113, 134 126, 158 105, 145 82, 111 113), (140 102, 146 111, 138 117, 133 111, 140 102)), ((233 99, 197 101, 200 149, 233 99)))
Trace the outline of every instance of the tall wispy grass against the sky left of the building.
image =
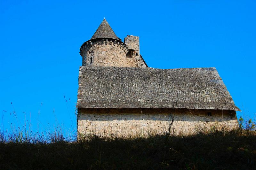
POLYGON ((73 120, 76 120, 77 109, 76 105, 72 106, 70 99, 66 99, 64 96, 64 102, 67 107, 68 115, 62 115, 69 117, 70 119, 70 128, 66 128, 61 125, 57 119, 55 111, 53 109, 52 116, 55 118, 55 124, 45 126, 39 120, 39 114, 41 113, 41 107, 43 102, 40 104, 38 113, 31 115, 31 113, 22 112, 24 119, 21 120, 21 116, 17 116, 17 112, 14 108, 14 104, 11 102, 12 112, 11 115, 11 124, 9 128, 4 128, 4 113, 7 111, 2 111, 2 121, 0 126, 0 142, 2 143, 56 143, 56 142, 72 142, 76 141, 77 138, 77 124, 73 124, 73 120), (74 112, 71 113, 71 110, 74 112), (34 120, 34 125, 31 123, 31 118, 34 120), (36 127, 35 127, 36 125, 36 127), (43 130, 41 130, 43 129, 43 130))

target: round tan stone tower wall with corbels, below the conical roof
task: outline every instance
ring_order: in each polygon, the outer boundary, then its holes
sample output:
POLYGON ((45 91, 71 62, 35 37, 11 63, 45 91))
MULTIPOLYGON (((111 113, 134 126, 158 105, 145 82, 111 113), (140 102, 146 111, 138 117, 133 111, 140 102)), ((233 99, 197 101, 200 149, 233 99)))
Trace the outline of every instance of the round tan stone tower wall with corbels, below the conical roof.
POLYGON ((81 48, 82 65, 126 67, 126 51, 126 45, 115 40, 90 41, 81 48))

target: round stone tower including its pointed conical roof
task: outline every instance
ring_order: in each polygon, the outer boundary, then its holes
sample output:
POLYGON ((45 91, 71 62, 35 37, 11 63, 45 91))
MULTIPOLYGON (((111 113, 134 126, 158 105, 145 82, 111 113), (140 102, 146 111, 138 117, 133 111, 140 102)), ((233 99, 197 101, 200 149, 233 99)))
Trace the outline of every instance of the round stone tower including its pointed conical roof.
POLYGON ((104 18, 92 36, 80 48, 82 66, 126 66, 127 46, 116 36, 104 18))

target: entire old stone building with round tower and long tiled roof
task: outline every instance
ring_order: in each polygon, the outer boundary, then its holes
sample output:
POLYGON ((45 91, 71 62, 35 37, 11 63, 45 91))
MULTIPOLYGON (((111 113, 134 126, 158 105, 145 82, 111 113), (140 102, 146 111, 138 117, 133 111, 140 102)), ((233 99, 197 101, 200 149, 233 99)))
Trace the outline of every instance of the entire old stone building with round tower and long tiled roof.
POLYGON ((78 134, 147 135, 237 127, 236 107, 216 68, 155 69, 138 36, 124 42, 106 19, 80 48, 78 134))

